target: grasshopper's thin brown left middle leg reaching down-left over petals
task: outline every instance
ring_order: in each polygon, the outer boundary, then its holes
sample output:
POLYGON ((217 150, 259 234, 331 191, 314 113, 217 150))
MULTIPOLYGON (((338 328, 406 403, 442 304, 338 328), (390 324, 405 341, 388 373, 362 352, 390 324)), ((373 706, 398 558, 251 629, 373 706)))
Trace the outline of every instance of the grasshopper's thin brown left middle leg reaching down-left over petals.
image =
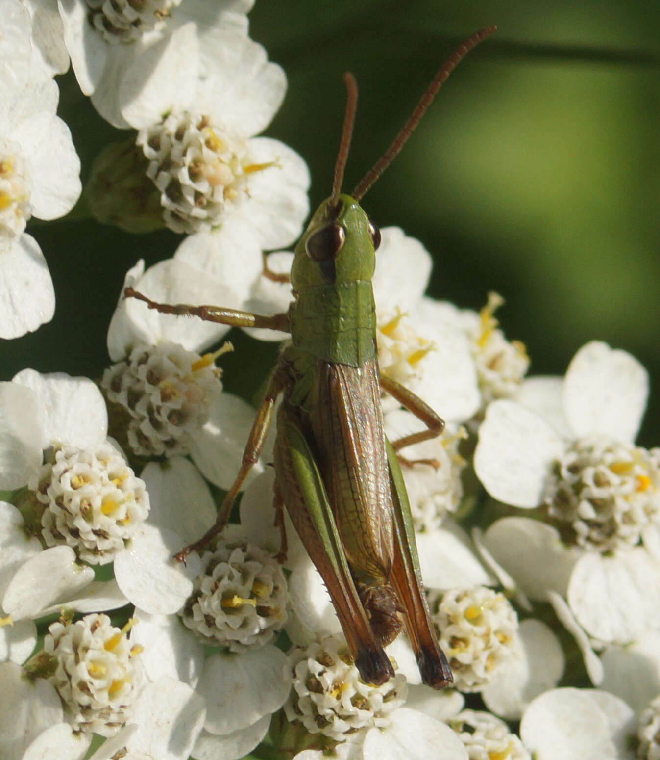
POLYGON ((273 410, 275 409, 275 401, 280 394, 283 387, 281 378, 281 372, 278 366, 272 372, 269 378, 268 385, 266 385, 266 391, 264 391, 261 404, 256 410, 256 416, 252 423, 252 429, 250 429, 250 435, 247 438, 247 443, 243 451, 243 458, 240 463, 240 469, 234 483, 231 484, 231 488, 225 495, 225 499, 222 500, 222 504, 218 509, 218 516, 215 518, 215 523, 206 531, 200 540, 191 543, 190 546, 181 549, 181 552, 174 555, 174 559, 179 562, 185 562, 186 557, 190 552, 196 552, 198 549, 203 549, 210 540, 215 538, 227 521, 231 513, 231 508, 234 506, 238 492, 242 488, 245 479, 250 473, 250 470, 254 467, 257 461, 259 461, 259 455, 261 454, 263 443, 266 440, 266 435, 270 425, 272 423, 273 410))

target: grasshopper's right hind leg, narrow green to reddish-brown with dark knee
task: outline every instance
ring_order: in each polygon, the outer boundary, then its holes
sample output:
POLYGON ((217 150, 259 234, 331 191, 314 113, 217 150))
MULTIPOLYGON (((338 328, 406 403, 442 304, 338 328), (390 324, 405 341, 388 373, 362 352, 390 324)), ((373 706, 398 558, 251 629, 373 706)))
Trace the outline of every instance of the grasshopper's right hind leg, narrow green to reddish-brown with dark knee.
POLYGON ((395 526, 391 583, 406 610, 406 632, 413 645, 422 680, 433 689, 442 689, 451 683, 453 676, 429 619, 410 502, 396 451, 389 441, 387 451, 395 526))

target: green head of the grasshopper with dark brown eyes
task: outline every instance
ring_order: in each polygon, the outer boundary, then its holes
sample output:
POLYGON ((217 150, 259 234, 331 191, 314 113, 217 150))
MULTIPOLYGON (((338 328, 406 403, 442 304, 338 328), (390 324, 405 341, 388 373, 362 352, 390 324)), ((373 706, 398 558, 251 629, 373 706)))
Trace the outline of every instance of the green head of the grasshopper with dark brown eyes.
POLYGON ((350 195, 323 201, 296 246, 294 292, 314 285, 371 280, 380 231, 350 195))

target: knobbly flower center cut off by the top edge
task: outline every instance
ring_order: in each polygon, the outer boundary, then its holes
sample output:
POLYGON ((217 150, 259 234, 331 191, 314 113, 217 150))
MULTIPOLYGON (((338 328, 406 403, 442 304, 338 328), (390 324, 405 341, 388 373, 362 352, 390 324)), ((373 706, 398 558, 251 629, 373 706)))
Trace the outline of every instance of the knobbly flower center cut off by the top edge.
POLYGON ((130 43, 165 27, 171 9, 181 0, 86 0, 90 24, 105 42, 130 43))

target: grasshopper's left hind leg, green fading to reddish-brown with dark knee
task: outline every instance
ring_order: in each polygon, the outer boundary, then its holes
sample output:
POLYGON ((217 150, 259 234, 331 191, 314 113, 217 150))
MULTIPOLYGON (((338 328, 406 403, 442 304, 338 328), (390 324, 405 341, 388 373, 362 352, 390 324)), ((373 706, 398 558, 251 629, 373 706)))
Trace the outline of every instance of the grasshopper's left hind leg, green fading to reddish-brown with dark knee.
POLYGON ((360 676, 367 683, 385 683, 394 669, 357 596, 313 451, 285 404, 278 413, 275 470, 291 521, 328 588, 360 676))

